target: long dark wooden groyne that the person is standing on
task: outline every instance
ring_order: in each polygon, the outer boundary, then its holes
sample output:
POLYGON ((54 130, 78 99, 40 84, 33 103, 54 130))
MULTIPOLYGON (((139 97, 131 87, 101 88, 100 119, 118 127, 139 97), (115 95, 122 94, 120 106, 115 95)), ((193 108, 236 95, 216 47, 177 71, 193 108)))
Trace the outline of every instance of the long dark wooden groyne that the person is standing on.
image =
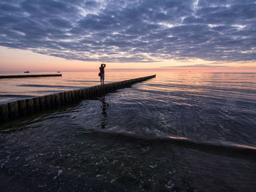
POLYGON ((33 114, 34 112, 58 109, 58 107, 72 104, 75 101, 94 98, 95 96, 110 93, 119 88, 126 88, 132 84, 135 84, 136 82, 142 82, 154 77, 156 77, 155 74, 132 80, 112 82, 105 85, 96 85, 89 88, 81 88, 46 96, 34 97, 31 99, 12 101, 7 104, 0 104, 0 122, 14 120, 19 117, 33 114))

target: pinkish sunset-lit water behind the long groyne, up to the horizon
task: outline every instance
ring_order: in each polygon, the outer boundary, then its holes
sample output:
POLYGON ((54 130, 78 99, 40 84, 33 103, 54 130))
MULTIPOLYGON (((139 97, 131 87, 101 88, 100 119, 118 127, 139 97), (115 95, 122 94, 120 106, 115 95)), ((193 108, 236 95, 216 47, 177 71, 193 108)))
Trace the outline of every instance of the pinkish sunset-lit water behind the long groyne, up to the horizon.
MULTIPOLYGON (((19 79, 0 79, 0 104, 31 96, 43 96, 78 88, 99 85, 98 72, 64 72, 62 77, 30 77, 19 79)), ((108 72, 105 83, 128 80, 151 75, 151 72, 108 72)), ((2 74, 3 75, 3 74, 2 74)), ((6 74, 7 75, 7 74, 6 74)))

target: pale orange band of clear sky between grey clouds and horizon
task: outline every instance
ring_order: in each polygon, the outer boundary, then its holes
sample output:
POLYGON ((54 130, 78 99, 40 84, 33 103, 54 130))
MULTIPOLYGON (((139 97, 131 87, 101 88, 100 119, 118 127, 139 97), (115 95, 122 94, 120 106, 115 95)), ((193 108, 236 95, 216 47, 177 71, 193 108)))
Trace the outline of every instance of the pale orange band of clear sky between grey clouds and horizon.
POLYGON ((98 71, 101 63, 107 64, 106 71, 171 71, 171 72, 256 72, 256 62, 223 62, 190 59, 188 61, 168 60, 155 63, 108 63, 104 61, 77 61, 33 53, 31 50, 17 50, 0 46, 0 72, 84 72, 98 71), (193 65, 202 65, 196 67, 193 65), (214 66, 214 67, 211 67, 214 66), (222 66, 222 67, 218 67, 222 66), (184 67, 186 66, 186 67, 184 67), (191 66, 191 67, 189 67, 191 66))

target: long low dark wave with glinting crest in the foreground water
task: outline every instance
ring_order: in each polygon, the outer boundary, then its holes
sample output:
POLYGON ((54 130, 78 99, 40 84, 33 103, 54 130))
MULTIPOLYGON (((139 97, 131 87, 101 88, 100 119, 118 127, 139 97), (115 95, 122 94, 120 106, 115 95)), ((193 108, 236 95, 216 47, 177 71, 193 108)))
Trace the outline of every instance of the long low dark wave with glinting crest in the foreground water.
POLYGON ((246 158, 256 158, 256 147, 250 145, 242 145, 233 142, 225 141, 195 141, 187 137, 174 137, 174 136, 156 136, 156 135, 137 135, 129 132, 113 132, 113 131, 87 131, 84 134, 91 135, 93 137, 113 137, 121 139, 121 141, 142 141, 151 145, 159 143, 169 143, 173 145, 181 145, 183 147, 189 147, 197 150, 204 150, 208 153, 223 153, 224 155, 238 155, 246 158))

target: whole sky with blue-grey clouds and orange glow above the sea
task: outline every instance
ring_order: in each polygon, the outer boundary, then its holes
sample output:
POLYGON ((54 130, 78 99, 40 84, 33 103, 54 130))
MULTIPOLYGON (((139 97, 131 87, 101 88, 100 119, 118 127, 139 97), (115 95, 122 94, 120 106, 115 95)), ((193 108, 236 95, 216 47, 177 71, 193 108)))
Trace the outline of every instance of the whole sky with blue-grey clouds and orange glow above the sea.
POLYGON ((1 0, 0 72, 256 72, 255 0, 1 0))

